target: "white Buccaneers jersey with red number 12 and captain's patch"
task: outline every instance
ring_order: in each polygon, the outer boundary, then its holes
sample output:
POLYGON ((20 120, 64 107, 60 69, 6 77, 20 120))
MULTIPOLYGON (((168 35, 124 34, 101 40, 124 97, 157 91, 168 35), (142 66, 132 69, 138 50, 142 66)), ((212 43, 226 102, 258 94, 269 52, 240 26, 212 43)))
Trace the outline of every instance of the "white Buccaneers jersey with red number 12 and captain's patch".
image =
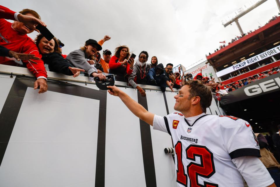
POLYGON ((232 159, 260 157, 250 124, 237 117, 202 113, 185 118, 174 112, 164 117, 155 115, 153 129, 172 136, 180 187, 243 187, 244 179, 232 159))

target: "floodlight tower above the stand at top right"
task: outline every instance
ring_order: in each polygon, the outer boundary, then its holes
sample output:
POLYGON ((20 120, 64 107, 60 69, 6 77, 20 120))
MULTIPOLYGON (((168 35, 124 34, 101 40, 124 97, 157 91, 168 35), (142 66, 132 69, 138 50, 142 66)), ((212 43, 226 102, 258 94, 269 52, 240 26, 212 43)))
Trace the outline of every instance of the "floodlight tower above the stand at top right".
MULTIPOLYGON (((222 21, 223 26, 226 27, 227 25, 230 25, 232 22, 235 22, 239 29, 239 32, 241 33, 241 35, 243 35, 244 32, 241 29, 238 19, 241 18, 242 16, 244 16, 245 14, 247 14, 248 12, 250 12, 251 10, 255 9, 256 7, 260 6, 265 1, 267 1, 267 0, 251 0, 250 3, 245 4, 244 6, 239 8, 237 11, 235 11, 231 15, 227 16, 227 18, 222 21)), ((276 0, 276 4, 280 11, 279 0, 276 0)))

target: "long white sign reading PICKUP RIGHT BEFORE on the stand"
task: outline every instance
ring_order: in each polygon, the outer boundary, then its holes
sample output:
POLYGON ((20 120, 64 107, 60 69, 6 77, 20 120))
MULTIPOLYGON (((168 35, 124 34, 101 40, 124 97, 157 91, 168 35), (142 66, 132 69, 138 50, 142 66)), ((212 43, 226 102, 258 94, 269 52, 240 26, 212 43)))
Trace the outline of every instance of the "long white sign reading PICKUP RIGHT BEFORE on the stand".
POLYGON ((253 63, 256 63, 256 62, 258 62, 260 60, 264 60, 266 58, 274 56, 274 55, 276 55, 278 53, 280 53, 280 45, 276 46, 276 47, 274 47, 272 49, 269 49, 269 50, 267 50, 267 51, 265 51, 263 53, 260 53, 260 54, 258 54, 256 56, 253 56, 251 58, 243 60, 242 62, 239 62, 239 63, 237 63, 235 65, 232 65, 232 66, 230 66, 230 67, 228 67, 228 68, 226 68, 224 70, 216 72, 216 75, 217 75, 217 77, 221 77, 223 75, 227 75, 227 74, 229 74, 231 72, 234 72, 234 71, 239 70, 239 69, 241 69, 243 67, 251 65, 253 63))

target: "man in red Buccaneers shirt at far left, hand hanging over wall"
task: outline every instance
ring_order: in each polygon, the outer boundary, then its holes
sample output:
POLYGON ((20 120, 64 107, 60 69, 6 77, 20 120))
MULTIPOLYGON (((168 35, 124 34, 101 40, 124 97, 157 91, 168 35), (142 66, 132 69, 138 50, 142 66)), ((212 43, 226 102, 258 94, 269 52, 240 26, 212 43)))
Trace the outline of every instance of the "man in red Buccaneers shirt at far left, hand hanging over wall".
MULTIPOLYGON (((38 93, 46 92, 48 89, 46 81, 47 72, 44 63, 41 60, 42 56, 39 54, 38 48, 34 44, 34 41, 27 36, 28 33, 36 30, 36 25, 46 25, 44 22, 38 19, 40 18, 38 13, 29 9, 24 9, 21 14, 11 11, 6 7, 0 6, 0 18, 0 45, 17 53, 27 53, 40 58, 40 60, 34 59, 33 62, 30 60, 22 60, 22 62, 26 64, 29 71, 31 71, 37 78, 34 83, 34 89, 37 89, 40 86, 38 93), (5 19, 15 21, 10 23, 5 19)), ((14 60, 4 56, 0 57, 0 64, 15 66, 18 65, 14 60)))

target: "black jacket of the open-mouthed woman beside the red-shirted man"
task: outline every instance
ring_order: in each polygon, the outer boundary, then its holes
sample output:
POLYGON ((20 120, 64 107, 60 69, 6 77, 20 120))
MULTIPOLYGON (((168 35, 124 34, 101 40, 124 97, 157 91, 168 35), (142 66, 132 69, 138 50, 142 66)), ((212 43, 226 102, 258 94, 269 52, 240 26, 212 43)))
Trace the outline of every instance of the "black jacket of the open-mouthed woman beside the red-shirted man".
POLYGON ((42 60, 45 64, 48 64, 50 71, 62 73, 64 75, 73 75, 68 67, 74 67, 71 65, 60 53, 49 53, 42 55, 42 60))

